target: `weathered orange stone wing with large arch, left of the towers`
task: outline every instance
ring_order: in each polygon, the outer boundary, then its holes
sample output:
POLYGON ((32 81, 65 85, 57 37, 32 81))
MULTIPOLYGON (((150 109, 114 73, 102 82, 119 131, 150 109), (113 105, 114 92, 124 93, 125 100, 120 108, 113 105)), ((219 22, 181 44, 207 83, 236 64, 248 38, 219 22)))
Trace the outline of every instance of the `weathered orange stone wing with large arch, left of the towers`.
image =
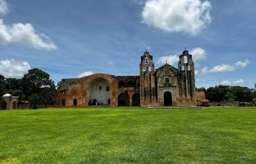
POLYGON ((107 105, 108 102, 105 98, 110 96, 110 106, 117 106, 118 96, 122 93, 128 94, 132 105, 132 97, 134 94, 140 93, 140 76, 92 74, 83 78, 64 79, 60 90, 57 92, 57 105, 59 107, 86 107, 91 105, 91 101, 94 98, 99 102, 103 102, 103 105, 107 105), (120 81, 124 82, 124 86, 118 87, 118 82, 120 81), (102 92, 105 90, 104 92, 107 94, 100 95, 97 93, 99 86, 101 86, 102 92), (106 92, 107 86, 109 86, 108 92, 106 92), (76 99, 77 105, 73 104, 74 99, 76 99))

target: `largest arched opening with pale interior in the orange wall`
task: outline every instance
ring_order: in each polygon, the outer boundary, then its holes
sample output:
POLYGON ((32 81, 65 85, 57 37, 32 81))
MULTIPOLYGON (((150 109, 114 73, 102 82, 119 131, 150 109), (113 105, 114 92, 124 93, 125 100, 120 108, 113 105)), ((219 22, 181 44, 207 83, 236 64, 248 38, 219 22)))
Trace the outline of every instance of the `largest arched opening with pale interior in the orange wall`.
POLYGON ((110 84, 105 78, 95 78, 88 88, 89 105, 110 105, 110 84))

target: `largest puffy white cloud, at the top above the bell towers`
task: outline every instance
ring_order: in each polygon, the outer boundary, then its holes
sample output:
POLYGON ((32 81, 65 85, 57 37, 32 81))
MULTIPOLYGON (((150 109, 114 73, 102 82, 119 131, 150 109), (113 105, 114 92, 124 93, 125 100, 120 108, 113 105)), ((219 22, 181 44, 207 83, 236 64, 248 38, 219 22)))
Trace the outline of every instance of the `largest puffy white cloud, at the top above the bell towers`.
POLYGON ((209 1, 148 0, 142 11, 142 22, 166 32, 185 32, 192 36, 210 24, 209 1))

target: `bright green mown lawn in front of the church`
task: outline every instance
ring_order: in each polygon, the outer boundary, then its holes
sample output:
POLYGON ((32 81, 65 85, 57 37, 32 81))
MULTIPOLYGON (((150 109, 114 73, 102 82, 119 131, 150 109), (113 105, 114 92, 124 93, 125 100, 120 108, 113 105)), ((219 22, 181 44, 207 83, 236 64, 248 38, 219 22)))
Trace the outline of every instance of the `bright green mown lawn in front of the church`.
POLYGON ((256 108, 0 111, 0 163, 256 163, 256 108))

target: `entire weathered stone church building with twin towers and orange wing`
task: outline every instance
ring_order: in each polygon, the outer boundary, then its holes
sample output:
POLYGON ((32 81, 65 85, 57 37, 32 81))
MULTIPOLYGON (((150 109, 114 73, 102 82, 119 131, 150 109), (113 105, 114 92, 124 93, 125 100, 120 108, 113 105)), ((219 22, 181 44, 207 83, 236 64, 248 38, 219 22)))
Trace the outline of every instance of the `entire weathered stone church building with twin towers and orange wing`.
POLYGON ((63 79, 57 105, 194 105, 196 99, 202 97, 195 91, 194 62, 187 50, 180 55, 178 68, 165 63, 158 69, 155 69, 153 56, 146 51, 141 57, 139 76, 92 74, 63 79))

